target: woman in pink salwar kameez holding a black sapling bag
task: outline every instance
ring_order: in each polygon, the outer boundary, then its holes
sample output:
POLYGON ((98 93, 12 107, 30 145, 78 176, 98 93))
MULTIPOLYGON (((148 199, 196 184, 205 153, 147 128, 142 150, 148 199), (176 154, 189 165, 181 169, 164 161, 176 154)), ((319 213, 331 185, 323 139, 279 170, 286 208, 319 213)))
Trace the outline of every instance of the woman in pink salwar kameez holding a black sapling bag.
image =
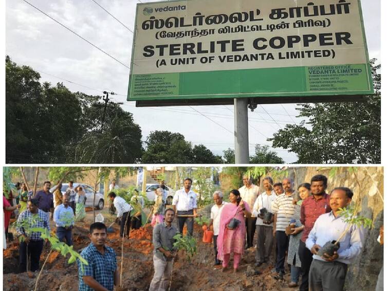
POLYGON ((242 201, 240 192, 232 190, 229 194, 230 203, 226 204, 221 212, 219 233, 217 238, 218 259, 223 261, 224 271, 229 264, 230 254, 233 252, 233 268, 237 271, 238 264, 245 246, 245 219, 251 216, 249 205, 242 201), (233 219, 240 221, 234 229, 228 229, 229 222, 233 219))

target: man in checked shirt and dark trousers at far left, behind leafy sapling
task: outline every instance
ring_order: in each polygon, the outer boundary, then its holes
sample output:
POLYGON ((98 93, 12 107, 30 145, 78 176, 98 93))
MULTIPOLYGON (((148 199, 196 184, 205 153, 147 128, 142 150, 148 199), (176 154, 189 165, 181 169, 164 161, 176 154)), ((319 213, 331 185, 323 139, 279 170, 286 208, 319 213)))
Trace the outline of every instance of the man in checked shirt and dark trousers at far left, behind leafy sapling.
POLYGON ((16 222, 16 232, 20 237, 19 246, 19 271, 27 271, 27 257, 30 256, 31 271, 39 269, 39 260, 43 250, 41 231, 32 231, 32 228, 47 229, 50 224, 44 211, 38 208, 38 199, 32 198, 27 204, 27 210, 23 211, 16 222))

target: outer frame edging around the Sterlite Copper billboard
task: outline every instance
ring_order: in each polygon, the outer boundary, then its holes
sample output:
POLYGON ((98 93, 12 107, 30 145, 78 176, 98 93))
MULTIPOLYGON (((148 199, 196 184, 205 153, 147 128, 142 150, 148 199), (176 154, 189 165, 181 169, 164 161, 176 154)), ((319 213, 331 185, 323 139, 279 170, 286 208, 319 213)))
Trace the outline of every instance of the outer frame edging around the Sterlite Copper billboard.
MULTIPOLYGON (((197 0, 187 0, 188 2, 197 1, 197 0)), ((172 1, 159 1, 152 3, 138 3, 136 6, 136 16, 135 16, 135 30, 133 37, 133 46, 132 46, 132 58, 131 58, 131 72, 130 79, 128 83, 128 94, 127 101, 136 101, 136 106, 144 107, 144 106, 184 106, 184 105, 230 105, 233 104, 233 98, 249 98, 252 102, 256 104, 278 104, 278 103, 319 103, 319 102, 338 102, 338 101, 360 101, 364 100, 365 96, 373 95, 373 81, 371 74, 371 65, 369 64, 369 54, 366 44, 366 35, 364 28, 364 20, 362 15, 362 7, 361 1, 356 0, 358 3, 358 13, 360 16, 360 26, 362 32, 362 41, 365 50, 365 59, 366 63, 364 64, 366 67, 366 74, 368 79, 368 90, 362 91, 346 91, 346 92, 319 92, 319 91, 309 91, 309 92, 272 92, 272 93, 254 93, 254 94, 245 94, 245 96, 241 96, 242 94, 209 94, 209 95, 192 95, 192 96, 146 96, 146 97, 136 97, 130 98, 131 95, 131 84, 133 82, 134 75, 132 74, 134 62, 134 52, 135 52, 135 41, 137 34, 137 21, 138 21, 138 11, 140 11, 139 6, 149 6, 151 5, 159 5, 159 4, 171 4, 174 2, 181 2, 181 0, 172 0, 172 1)), ((209 71, 212 72, 212 71, 209 71)), ((165 74, 165 73, 161 73, 165 74)), ((157 74, 156 74, 157 75, 157 74)))

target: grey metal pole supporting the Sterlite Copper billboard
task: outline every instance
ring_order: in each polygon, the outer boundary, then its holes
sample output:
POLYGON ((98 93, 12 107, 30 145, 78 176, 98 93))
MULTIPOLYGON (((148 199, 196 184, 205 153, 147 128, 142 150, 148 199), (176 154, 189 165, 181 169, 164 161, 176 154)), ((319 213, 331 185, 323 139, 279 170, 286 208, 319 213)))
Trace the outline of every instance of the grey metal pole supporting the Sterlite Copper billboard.
POLYGON ((235 163, 249 163, 248 98, 234 98, 235 163))

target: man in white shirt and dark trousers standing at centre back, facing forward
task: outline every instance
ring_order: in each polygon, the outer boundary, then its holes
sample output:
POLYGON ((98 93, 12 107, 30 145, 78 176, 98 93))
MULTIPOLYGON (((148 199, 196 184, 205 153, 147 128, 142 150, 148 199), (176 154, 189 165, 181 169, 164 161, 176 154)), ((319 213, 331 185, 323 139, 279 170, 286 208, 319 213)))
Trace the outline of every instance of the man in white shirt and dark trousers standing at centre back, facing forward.
POLYGON ((184 179, 184 188, 176 191, 173 198, 173 208, 178 217, 179 232, 183 233, 183 225, 186 222, 189 235, 193 235, 194 217, 198 216, 197 194, 191 190, 192 183, 193 180, 191 178, 184 179))

